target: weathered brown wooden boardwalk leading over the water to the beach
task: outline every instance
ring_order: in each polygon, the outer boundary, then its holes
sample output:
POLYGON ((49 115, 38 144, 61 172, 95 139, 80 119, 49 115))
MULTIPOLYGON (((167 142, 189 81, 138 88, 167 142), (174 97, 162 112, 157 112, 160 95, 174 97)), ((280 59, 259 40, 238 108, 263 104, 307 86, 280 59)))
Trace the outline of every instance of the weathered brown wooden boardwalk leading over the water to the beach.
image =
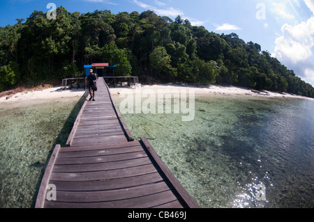
POLYGON ((68 147, 54 148, 35 207, 198 208, 147 139, 134 141, 103 78, 97 85, 96 101, 84 102, 68 147), (55 200, 47 200, 50 184, 55 200))

